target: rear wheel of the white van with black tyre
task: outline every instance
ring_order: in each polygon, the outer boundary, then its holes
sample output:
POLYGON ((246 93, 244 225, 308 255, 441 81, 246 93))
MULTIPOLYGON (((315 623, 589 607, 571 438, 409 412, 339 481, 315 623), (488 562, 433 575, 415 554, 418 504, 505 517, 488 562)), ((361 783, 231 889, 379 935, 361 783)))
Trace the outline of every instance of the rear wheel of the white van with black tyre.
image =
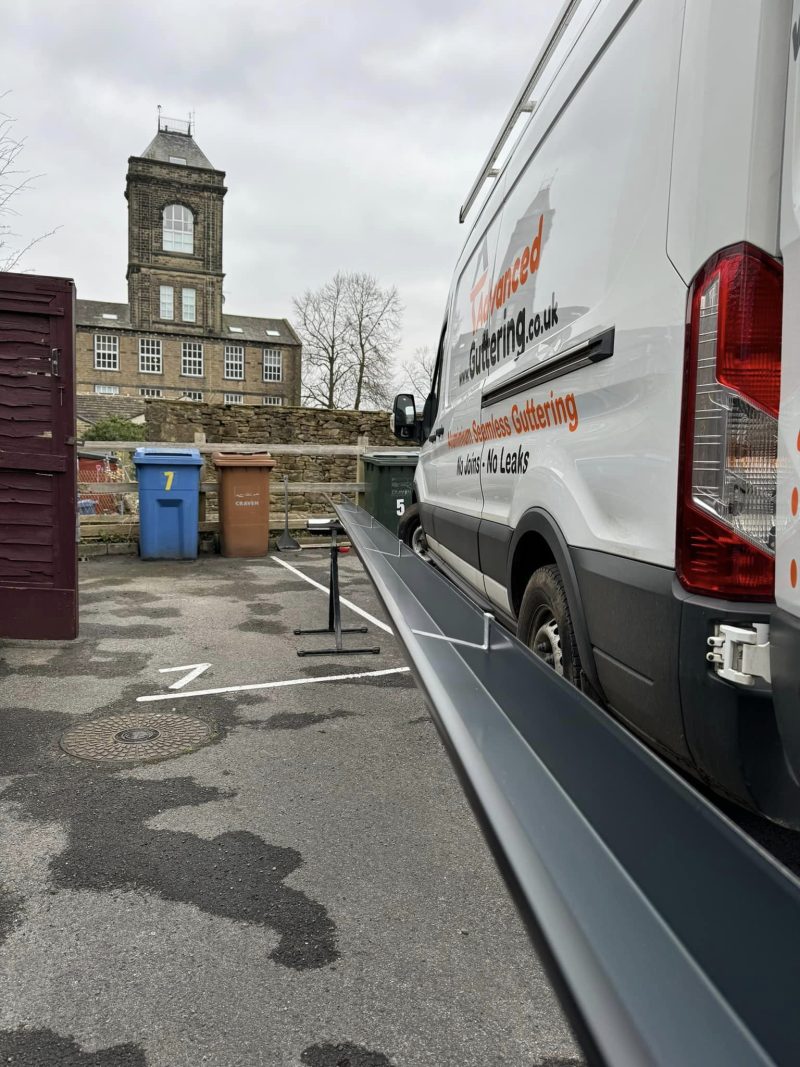
POLYGON ((525 589, 516 636, 567 682, 581 688, 582 670, 566 592, 558 568, 534 571, 525 589))

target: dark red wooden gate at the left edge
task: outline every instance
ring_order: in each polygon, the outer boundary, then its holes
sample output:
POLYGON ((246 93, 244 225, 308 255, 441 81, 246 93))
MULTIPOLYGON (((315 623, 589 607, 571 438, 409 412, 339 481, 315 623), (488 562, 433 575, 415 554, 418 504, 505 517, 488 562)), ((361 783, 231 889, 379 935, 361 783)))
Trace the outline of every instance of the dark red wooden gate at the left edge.
POLYGON ((0 637, 78 635, 75 285, 0 273, 0 637))

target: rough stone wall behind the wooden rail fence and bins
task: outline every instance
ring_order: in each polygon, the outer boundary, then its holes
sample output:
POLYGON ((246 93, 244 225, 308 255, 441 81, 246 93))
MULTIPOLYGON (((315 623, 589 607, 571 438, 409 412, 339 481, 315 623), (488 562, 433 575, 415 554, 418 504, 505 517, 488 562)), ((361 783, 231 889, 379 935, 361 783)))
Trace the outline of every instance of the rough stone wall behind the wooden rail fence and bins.
MULTIPOLYGON (((207 444, 266 445, 356 445, 368 436, 370 448, 397 448, 401 443, 391 432, 388 412, 325 411, 319 408, 218 408, 186 401, 148 400, 145 408, 147 441, 191 442, 205 433, 207 444)), ((208 468, 204 478, 213 478, 208 468)), ((289 482, 355 481, 355 456, 275 456, 273 485, 289 482)), ((334 495, 338 499, 338 495, 334 495)), ((283 503, 283 496, 273 499, 283 503)), ((213 509, 215 501, 209 500, 213 509)), ((300 515, 327 513, 322 494, 289 496, 289 510, 300 515)))

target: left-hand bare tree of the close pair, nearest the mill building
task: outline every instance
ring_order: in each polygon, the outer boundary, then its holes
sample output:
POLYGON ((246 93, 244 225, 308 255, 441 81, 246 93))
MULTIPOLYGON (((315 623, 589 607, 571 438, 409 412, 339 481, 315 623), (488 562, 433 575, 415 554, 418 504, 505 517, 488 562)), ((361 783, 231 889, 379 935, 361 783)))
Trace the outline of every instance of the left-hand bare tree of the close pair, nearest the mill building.
POLYGON ((352 395, 346 292, 347 275, 339 271, 292 301, 303 341, 303 399, 314 408, 346 408, 352 395))

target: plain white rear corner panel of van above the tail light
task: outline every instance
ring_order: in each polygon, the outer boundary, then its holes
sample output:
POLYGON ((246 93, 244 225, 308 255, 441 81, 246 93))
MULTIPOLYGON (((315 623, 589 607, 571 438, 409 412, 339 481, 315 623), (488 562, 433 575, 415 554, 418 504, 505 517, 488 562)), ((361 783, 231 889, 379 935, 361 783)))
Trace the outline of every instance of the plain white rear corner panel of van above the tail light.
POLYGON ((668 251, 688 284, 715 252, 777 255, 791 0, 688 0, 668 251))

